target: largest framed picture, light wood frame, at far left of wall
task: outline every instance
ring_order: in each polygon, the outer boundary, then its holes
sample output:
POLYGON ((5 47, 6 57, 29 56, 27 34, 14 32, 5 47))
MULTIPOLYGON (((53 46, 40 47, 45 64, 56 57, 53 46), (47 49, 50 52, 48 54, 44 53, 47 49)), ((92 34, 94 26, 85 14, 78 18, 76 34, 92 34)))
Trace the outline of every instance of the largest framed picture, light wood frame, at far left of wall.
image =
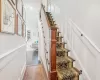
POLYGON ((15 33, 16 10, 9 0, 0 0, 0 32, 15 33))

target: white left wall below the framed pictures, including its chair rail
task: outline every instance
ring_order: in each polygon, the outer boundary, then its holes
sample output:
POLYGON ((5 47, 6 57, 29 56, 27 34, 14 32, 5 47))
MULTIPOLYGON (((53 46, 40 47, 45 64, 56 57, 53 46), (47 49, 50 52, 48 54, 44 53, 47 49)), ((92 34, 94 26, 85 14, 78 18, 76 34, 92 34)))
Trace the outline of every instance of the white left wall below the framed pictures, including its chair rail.
POLYGON ((22 80, 25 68, 25 39, 17 35, 0 33, 0 79, 22 80))

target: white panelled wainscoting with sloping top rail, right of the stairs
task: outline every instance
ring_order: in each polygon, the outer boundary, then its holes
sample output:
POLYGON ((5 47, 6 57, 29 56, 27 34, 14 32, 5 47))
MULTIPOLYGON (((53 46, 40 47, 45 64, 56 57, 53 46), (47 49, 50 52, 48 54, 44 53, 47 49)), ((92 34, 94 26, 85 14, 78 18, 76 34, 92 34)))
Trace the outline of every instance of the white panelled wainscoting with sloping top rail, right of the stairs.
MULTIPOLYGON (((100 49, 69 19, 67 21, 64 41, 71 50, 69 55, 76 61, 74 66, 82 70, 80 80, 99 80, 100 74, 100 49)), ((63 29, 63 30, 64 30, 63 29)), ((62 31, 61 31, 62 32, 62 31)))

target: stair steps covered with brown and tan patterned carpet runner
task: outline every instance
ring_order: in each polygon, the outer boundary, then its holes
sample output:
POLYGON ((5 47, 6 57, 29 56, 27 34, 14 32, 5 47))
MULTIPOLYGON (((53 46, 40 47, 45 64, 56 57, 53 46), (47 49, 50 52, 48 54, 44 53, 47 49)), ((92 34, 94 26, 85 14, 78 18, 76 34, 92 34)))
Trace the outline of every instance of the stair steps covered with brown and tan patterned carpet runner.
MULTIPOLYGON (((55 21, 52 18, 50 12, 46 12, 48 22, 51 27, 56 27, 55 21)), ((74 67, 73 63, 75 60, 68 55, 70 50, 65 48, 67 43, 62 41, 63 36, 61 32, 56 30, 56 71, 57 71, 57 80, 79 80, 79 76, 82 73, 81 70, 78 70, 74 67)))

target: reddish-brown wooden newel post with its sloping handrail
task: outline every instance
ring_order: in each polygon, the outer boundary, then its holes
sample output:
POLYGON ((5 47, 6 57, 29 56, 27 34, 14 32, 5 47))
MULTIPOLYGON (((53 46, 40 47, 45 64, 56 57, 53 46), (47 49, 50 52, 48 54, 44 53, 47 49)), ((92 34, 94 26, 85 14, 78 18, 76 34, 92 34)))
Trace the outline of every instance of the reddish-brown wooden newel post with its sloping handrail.
POLYGON ((48 26, 51 29, 50 72, 48 72, 48 73, 49 73, 50 80, 57 80, 57 71, 56 71, 56 32, 57 32, 57 27, 55 27, 55 25, 51 26, 50 21, 47 16, 47 13, 44 9, 44 6, 43 5, 41 5, 41 6, 45 13, 45 17, 46 17, 48 26))

